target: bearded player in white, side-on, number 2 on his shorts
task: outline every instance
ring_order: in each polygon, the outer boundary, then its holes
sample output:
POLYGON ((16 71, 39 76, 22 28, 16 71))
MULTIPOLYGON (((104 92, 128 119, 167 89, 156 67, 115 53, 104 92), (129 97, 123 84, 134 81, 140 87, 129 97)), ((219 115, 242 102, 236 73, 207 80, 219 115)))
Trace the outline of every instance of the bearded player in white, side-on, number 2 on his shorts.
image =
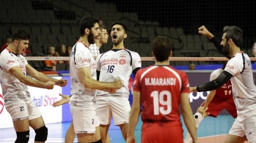
MULTIPOLYGON (((99 121, 95 111, 95 89, 113 92, 122 87, 122 81, 99 82, 96 80, 96 67, 93 55, 88 49, 95 43, 101 31, 98 19, 84 16, 79 23, 80 39, 70 54, 71 98, 70 110, 74 132, 78 142, 100 143, 99 121)), ((68 134, 66 134, 68 135, 68 134)))

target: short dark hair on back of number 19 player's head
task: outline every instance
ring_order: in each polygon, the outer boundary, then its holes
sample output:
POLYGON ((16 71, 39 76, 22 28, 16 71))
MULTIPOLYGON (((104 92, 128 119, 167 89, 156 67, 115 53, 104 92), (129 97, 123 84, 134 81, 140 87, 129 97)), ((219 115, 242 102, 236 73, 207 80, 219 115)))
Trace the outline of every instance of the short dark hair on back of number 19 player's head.
POLYGON ((152 43, 152 52, 157 61, 165 61, 172 51, 172 42, 168 36, 157 36, 152 43))

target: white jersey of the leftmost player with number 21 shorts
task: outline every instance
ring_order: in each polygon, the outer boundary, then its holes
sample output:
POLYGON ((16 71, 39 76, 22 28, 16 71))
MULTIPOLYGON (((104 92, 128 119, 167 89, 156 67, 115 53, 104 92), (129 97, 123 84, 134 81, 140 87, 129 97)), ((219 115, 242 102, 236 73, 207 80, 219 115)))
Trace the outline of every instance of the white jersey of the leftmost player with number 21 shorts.
POLYGON ((3 50, 0 55, 0 81, 5 104, 19 101, 20 99, 30 98, 27 91, 27 85, 20 82, 14 75, 8 71, 12 67, 19 67, 24 75, 26 72, 27 60, 22 55, 10 52, 8 49, 3 50))

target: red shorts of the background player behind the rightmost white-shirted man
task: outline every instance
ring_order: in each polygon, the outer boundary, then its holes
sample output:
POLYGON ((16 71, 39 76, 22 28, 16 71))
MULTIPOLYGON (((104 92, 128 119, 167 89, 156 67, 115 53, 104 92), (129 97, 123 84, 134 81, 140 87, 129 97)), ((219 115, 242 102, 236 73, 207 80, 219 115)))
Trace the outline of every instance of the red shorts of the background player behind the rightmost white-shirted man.
MULTIPOLYGON (((201 106, 203 106, 204 103, 205 102, 203 102, 201 106)), ((233 116, 233 118, 237 117, 236 105, 234 105, 233 97, 228 99, 222 99, 219 97, 212 98, 212 101, 209 103, 206 112, 209 113, 208 116, 216 118, 223 109, 226 109, 230 115, 233 116)))

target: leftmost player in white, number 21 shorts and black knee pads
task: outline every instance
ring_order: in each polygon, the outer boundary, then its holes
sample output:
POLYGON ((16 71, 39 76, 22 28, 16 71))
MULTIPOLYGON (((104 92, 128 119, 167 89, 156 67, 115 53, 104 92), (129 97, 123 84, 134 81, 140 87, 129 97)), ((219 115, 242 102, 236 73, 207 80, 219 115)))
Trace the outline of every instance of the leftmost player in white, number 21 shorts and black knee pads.
POLYGON ((5 108, 12 117, 17 138, 15 142, 29 142, 29 126, 35 131, 35 142, 47 140, 48 129, 41 113, 31 101, 27 86, 53 89, 66 86, 67 80, 51 78, 31 67, 22 53, 28 48, 30 35, 18 28, 12 41, 0 55, 0 82, 5 108), (34 79, 27 76, 29 74, 34 79))

